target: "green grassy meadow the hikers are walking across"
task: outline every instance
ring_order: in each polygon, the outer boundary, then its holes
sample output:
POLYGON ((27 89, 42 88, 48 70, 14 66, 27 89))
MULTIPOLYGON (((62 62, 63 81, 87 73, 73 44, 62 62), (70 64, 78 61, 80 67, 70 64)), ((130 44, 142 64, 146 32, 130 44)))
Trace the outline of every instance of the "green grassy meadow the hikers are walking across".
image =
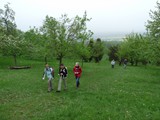
MULTIPOLYGON (((68 67, 68 90, 47 93, 42 80, 43 62, 20 60, 31 65, 28 70, 10 70, 11 61, 1 58, 0 120, 159 120, 160 67, 115 66, 108 62, 85 63, 80 89, 75 88, 73 61, 68 67)), ((62 86, 63 87, 63 86, 62 86)))

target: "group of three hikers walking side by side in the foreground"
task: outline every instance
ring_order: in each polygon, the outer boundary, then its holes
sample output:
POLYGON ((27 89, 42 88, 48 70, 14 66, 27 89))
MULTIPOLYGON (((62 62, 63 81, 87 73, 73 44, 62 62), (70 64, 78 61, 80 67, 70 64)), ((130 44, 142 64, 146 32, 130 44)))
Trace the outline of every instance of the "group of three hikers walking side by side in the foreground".
MULTIPOLYGON (((81 77, 82 68, 79 66, 78 62, 76 62, 75 66, 73 68, 73 72, 74 72, 74 75, 76 78, 76 88, 79 88, 79 85, 80 85, 79 80, 81 77)), ((57 92, 61 91, 62 81, 64 83, 64 90, 67 89, 67 81, 66 81, 67 75, 68 75, 67 68, 64 66, 64 64, 61 64, 60 68, 59 68, 60 78, 59 78, 59 82, 58 82, 57 92)), ((52 67, 49 67, 48 64, 46 64, 45 69, 44 69, 43 78, 42 78, 43 80, 45 79, 45 76, 47 76, 47 78, 48 78, 48 92, 50 92, 53 90, 52 79, 54 78, 54 69, 52 67)))

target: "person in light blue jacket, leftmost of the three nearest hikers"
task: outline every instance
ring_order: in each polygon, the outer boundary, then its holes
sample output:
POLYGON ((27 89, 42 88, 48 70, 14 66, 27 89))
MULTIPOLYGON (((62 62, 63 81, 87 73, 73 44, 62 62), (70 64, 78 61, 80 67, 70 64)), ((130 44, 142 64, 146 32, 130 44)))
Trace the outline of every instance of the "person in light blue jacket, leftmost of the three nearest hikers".
POLYGON ((45 69, 43 72, 43 80, 45 79, 45 76, 48 78, 48 92, 53 90, 52 86, 52 79, 54 78, 54 69, 52 67, 49 67, 48 64, 45 65, 45 69))

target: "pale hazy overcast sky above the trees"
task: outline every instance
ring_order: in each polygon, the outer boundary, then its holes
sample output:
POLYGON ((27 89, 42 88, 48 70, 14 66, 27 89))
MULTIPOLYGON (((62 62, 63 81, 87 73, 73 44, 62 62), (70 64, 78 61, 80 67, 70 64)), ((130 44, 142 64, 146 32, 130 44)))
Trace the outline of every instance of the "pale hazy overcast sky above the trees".
POLYGON ((145 32, 150 10, 155 10, 158 0, 0 0, 0 8, 11 3, 17 27, 23 31, 39 27, 46 15, 59 18, 83 16, 87 11, 92 20, 88 29, 95 33, 145 32))

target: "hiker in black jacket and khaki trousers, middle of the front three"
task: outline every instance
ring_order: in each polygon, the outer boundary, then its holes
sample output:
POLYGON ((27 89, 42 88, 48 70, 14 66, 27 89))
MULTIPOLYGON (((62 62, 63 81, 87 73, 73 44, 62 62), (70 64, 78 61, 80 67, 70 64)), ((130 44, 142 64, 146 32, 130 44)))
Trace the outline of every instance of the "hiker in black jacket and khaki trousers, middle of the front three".
POLYGON ((64 64, 61 64, 60 69, 59 69, 60 78, 59 78, 59 82, 58 82, 58 90, 56 92, 61 91, 62 81, 64 83, 64 90, 67 90, 67 81, 66 81, 67 75, 68 75, 67 68, 64 66, 64 64))

